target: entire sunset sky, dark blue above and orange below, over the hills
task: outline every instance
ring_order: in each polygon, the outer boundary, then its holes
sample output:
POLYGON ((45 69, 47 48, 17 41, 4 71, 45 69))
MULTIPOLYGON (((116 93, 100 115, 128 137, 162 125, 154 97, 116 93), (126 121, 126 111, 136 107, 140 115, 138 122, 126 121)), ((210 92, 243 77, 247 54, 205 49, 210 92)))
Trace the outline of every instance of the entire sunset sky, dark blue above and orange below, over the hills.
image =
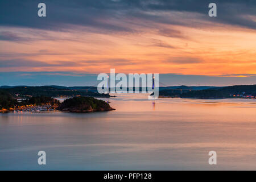
POLYGON ((0 85, 93 85, 110 68, 167 85, 256 84, 255 48, 256 1, 0 2, 0 85))

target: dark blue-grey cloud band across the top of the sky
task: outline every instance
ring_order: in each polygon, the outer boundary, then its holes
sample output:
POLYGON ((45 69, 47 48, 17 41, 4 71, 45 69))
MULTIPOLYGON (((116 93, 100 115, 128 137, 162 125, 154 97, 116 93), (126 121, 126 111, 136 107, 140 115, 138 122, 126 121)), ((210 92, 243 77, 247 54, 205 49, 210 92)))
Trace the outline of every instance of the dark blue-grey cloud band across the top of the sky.
MULTIPOLYGON (((134 32, 125 20, 137 18, 142 22, 183 24, 179 19, 167 19, 164 14, 148 14, 160 12, 197 13, 208 22, 218 22, 233 26, 256 29, 256 23, 246 15, 256 15, 256 1, 216 0, 217 18, 208 16, 208 5, 212 1, 205 0, 56 0, 44 2, 47 5, 47 17, 37 16, 37 5, 40 1, 10 0, 0 2, 0 25, 15 27, 31 27, 43 30, 65 31, 68 25, 86 26, 101 32, 134 32)), ((189 18, 189 17, 187 17, 189 18)), ((191 25, 190 25, 191 26, 191 25)), ((203 25, 202 25, 203 26, 203 25)))

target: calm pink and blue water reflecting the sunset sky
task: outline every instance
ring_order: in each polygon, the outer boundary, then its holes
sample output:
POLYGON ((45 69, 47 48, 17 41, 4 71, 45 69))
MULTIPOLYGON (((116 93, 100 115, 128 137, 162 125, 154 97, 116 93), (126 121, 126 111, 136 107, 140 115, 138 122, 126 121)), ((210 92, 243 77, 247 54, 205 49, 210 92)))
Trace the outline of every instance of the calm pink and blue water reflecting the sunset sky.
POLYGON ((117 110, 0 114, 0 169, 256 169, 255 100, 108 100, 117 110))

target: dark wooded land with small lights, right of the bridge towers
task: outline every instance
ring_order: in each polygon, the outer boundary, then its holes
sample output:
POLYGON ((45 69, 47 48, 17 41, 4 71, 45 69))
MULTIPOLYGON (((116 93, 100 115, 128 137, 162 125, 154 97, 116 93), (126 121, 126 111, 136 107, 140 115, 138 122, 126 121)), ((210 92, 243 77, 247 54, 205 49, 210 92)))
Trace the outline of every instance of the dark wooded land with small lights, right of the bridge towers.
POLYGON ((256 98, 256 85, 235 85, 204 90, 164 89, 159 91, 159 97, 179 98, 256 98))

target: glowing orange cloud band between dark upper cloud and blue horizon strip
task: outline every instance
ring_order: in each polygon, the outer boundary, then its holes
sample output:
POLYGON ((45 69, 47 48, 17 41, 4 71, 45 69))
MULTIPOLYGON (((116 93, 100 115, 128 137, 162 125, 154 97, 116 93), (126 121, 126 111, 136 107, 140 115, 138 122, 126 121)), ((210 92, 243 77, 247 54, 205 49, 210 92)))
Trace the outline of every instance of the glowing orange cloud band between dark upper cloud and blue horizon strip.
POLYGON ((84 32, 81 27, 68 32, 2 27, 16 41, 0 41, 0 72, 101 73, 115 68, 124 73, 256 74, 254 30, 218 24, 154 26, 134 27, 137 32, 127 34, 84 32))

